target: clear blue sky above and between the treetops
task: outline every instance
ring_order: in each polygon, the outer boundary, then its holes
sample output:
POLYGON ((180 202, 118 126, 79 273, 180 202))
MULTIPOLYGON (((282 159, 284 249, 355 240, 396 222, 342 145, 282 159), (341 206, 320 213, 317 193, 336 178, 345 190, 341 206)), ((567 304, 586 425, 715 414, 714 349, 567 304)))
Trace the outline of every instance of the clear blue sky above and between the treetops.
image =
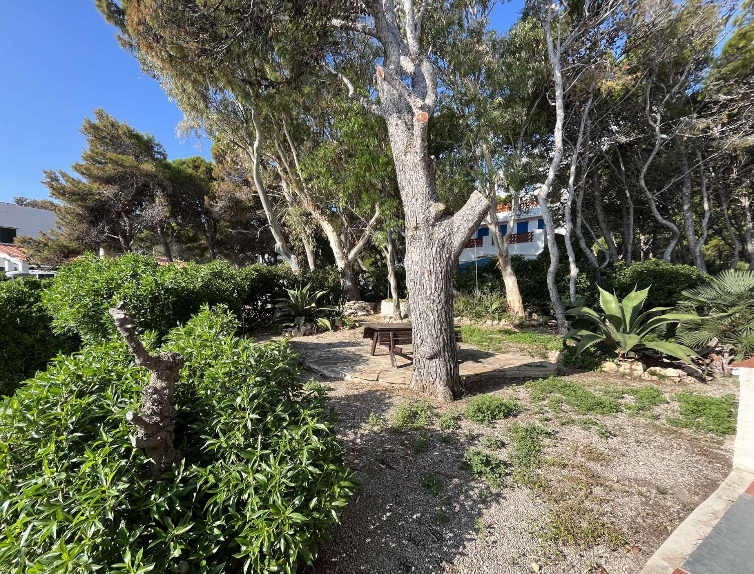
MULTIPOLYGON (((81 157, 84 117, 101 107, 162 143, 169 158, 209 157, 210 142, 184 140, 182 115, 159 84, 121 50, 92 0, 11 0, 0 19, 0 201, 46 198, 42 170, 69 170, 81 157)), ((506 30, 523 0, 498 5, 506 30)))

